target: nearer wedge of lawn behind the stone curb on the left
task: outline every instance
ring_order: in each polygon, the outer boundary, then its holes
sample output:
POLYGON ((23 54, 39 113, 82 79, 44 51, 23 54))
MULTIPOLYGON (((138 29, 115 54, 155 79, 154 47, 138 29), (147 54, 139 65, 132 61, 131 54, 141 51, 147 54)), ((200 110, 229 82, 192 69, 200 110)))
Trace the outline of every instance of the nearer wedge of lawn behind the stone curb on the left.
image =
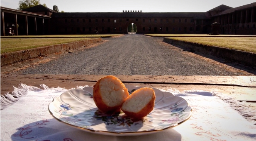
POLYGON ((1 38, 1 54, 91 38, 1 38))

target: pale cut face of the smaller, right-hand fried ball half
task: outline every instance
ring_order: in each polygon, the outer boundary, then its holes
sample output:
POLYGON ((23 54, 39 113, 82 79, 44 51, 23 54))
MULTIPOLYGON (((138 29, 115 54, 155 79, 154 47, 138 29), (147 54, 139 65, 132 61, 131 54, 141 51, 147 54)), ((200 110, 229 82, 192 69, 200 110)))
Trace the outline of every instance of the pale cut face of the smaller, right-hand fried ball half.
POLYGON ((131 97, 123 103, 122 109, 128 112, 138 113, 151 101, 153 95, 151 89, 139 90, 139 92, 130 95, 131 97))

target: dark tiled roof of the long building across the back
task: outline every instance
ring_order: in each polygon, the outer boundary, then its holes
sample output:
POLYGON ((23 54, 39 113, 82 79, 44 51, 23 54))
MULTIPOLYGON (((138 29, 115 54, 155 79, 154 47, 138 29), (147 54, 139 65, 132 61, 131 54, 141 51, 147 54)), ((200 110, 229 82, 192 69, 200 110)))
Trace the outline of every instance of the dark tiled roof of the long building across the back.
POLYGON ((51 17, 56 18, 194 18, 207 19, 205 12, 71 12, 54 13, 51 17))

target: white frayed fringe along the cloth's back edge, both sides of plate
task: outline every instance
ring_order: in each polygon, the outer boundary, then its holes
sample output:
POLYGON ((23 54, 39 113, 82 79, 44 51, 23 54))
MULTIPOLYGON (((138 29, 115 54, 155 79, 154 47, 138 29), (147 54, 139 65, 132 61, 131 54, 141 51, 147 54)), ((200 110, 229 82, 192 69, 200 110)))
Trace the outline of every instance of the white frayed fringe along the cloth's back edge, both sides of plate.
MULTIPOLYGON (((67 90, 65 88, 57 87, 57 88, 49 88, 48 86, 42 84, 40 85, 43 89, 52 89, 55 91, 63 91, 67 90)), ((84 87, 88 86, 77 86, 76 89, 83 89, 84 87)), ((6 93, 5 95, 1 95, 1 110, 7 108, 8 106, 11 106, 15 102, 17 102, 21 97, 25 96, 29 91, 41 91, 43 89, 40 89, 38 87, 34 86, 27 86, 25 84, 20 84, 20 87, 14 87, 14 91, 12 93, 6 93)), ((75 89, 75 88, 72 88, 75 89)), ((160 89, 162 91, 166 91, 163 89, 160 89)), ((217 92, 216 90, 212 92, 206 92, 201 90, 189 90, 189 91, 183 91, 180 92, 177 89, 167 89, 166 92, 171 92, 173 94, 176 94, 177 96, 182 96, 179 94, 200 94, 201 95, 207 95, 211 94, 212 96, 217 96, 223 101, 229 103, 229 105, 234 108, 236 111, 238 111, 245 119, 255 122, 256 121, 256 110, 251 110, 245 105, 245 101, 237 101, 231 96, 223 95, 222 93, 217 92)), ((254 123, 256 125, 256 123, 254 123)))

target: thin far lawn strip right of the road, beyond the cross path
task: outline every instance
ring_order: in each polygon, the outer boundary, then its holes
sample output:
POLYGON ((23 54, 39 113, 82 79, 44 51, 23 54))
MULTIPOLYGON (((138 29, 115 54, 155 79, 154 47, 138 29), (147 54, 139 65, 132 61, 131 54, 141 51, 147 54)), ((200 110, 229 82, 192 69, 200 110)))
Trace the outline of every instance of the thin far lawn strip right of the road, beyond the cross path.
POLYGON ((209 34, 144 34, 152 37, 232 37, 232 36, 251 36, 256 37, 256 35, 209 35, 209 34))

